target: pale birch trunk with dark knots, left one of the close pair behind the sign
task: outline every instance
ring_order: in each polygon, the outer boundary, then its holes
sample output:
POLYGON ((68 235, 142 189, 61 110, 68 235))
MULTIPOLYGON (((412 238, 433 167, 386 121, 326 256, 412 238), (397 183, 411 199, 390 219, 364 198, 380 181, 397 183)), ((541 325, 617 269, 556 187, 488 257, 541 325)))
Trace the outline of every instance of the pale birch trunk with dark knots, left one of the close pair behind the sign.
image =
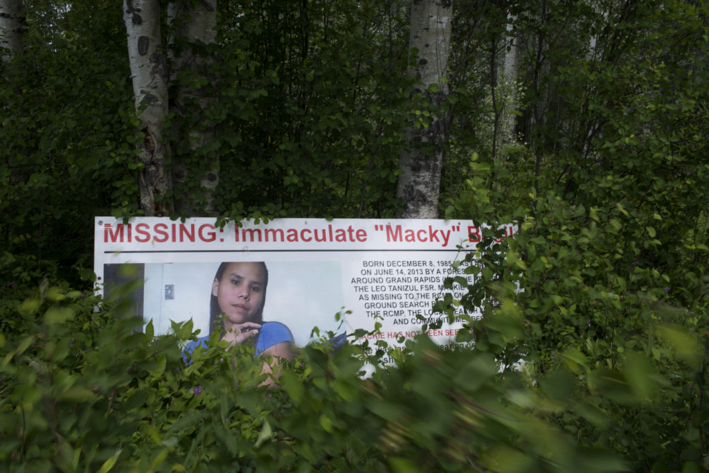
POLYGON ((167 118, 167 60, 160 40, 160 0, 123 0, 128 33, 128 59, 133 79, 135 110, 143 137, 138 143, 140 208, 147 216, 168 216, 172 205, 172 178, 165 169, 169 143, 164 136, 167 118))

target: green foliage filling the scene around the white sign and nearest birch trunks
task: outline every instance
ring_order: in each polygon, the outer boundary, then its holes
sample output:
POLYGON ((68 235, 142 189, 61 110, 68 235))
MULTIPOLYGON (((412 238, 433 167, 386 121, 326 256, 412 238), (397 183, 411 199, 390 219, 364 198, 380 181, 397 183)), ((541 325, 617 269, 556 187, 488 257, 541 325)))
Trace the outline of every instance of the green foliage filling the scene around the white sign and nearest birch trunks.
MULTIPOLYGON (((0 65, 4 469, 709 468, 704 1, 454 4, 442 214, 519 227, 488 230, 474 284, 447 282, 467 295, 437 304, 482 308, 475 345, 412 341, 368 379, 386 347, 306 347, 268 392, 247 355, 185 367, 189 325, 94 312, 93 216, 139 213, 121 9, 26 8, 26 51, 0 65)), ((180 77, 216 100, 170 124, 191 168, 220 156, 220 216, 393 216, 403 128, 430 116, 406 93, 408 2, 219 8, 218 60, 180 77), (193 152, 199 127, 215 138, 193 152)))

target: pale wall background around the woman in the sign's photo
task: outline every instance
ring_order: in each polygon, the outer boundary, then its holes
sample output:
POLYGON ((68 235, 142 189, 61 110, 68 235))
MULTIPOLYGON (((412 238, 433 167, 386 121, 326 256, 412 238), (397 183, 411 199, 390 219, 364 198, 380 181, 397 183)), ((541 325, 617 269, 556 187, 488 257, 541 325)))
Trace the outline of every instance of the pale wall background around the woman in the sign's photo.
MULTIPOLYGON (((229 263, 229 262, 227 262, 229 263)), ((242 265, 264 265, 267 283, 262 301, 263 323, 285 325, 296 346, 313 339, 313 328, 321 334, 345 333, 347 328, 335 321, 335 314, 345 305, 342 292, 342 268, 338 261, 265 261, 235 262, 242 265)), ((210 333, 212 299, 220 262, 157 262, 131 265, 135 277, 143 277, 140 291, 130 294, 135 315, 145 323, 152 321, 155 333, 169 333, 171 321, 193 321, 199 336, 210 333)), ((118 268, 104 265, 106 291, 125 282, 118 268)), ((225 276, 222 276, 225 277, 225 276)), ((218 292, 218 291, 217 291, 218 292)), ((224 294, 224 293, 222 293, 224 294)), ((251 296, 252 300, 258 296, 251 296)), ((260 299, 259 299, 260 300, 260 299)), ((226 304, 226 303, 225 303, 226 304)), ((248 304, 248 302, 247 302, 248 304)), ((228 311, 228 307, 223 307, 228 311)), ((225 312, 222 310, 221 312, 225 312)))

